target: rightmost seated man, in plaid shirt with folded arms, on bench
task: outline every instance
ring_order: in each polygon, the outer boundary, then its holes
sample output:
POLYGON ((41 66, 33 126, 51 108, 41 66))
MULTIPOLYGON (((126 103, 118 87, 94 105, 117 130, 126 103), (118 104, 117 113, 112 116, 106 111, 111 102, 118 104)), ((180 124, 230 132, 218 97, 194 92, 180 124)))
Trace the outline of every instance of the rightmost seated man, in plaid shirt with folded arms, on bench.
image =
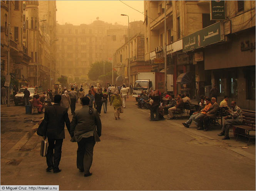
POLYGON ((240 107, 236 105, 236 102, 231 102, 231 111, 226 110, 229 112, 230 115, 224 117, 225 122, 222 127, 221 133, 219 133, 219 136, 224 136, 223 140, 230 139, 229 138, 229 127, 230 125, 241 125, 243 123, 243 114, 240 107))

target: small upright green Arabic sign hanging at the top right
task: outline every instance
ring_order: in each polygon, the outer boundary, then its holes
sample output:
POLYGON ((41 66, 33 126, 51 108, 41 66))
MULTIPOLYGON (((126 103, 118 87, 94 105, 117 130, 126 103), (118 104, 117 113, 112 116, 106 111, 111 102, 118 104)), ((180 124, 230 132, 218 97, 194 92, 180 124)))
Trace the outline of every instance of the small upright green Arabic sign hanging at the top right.
POLYGON ((225 1, 211 1, 210 10, 211 20, 225 20, 225 1))

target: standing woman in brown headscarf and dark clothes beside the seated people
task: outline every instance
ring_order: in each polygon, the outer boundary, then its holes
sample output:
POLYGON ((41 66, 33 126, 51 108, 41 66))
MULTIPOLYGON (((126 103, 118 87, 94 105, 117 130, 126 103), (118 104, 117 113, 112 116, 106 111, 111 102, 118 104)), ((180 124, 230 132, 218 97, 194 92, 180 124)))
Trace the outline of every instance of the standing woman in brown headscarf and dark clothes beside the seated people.
POLYGON ((151 92, 150 97, 153 100, 153 104, 150 109, 150 120, 158 121, 159 120, 158 109, 159 109, 159 105, 160 105, 161 93, 157 89, 156 91, 151 92), (154 117, 154 113, 156 113, 156 118, 154 117))

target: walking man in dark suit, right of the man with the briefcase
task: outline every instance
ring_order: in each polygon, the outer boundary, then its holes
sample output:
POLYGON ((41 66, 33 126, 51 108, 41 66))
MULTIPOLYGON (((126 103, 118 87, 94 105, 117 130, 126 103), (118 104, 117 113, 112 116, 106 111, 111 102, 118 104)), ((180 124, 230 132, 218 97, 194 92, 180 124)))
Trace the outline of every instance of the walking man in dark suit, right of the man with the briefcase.
POLYGON ((75 111, 71 122, 71 142, 77 142, 77 168, 84 172, 84 176, 90 176, 92 166, 93 148, 95 142, 100 141, 101 121, 96 109, 89 107, 90 99, 82 98, 82 109, 75 111))

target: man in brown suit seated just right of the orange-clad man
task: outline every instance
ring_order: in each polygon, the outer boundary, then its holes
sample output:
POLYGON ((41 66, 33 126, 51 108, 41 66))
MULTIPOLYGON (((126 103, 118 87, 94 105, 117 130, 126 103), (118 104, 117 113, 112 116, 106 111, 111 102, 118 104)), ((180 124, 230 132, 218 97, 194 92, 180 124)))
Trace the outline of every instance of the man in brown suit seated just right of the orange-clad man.
POLYGON ((216 117, 217 112, 219 110, 219 104, 216 102, 216 98, 212 97, 211 98, 211 107, 209 108, 208 112, 206 115, 201 117, 199 119, 199 128, 197 130, 204 130, 207 131, 207 128, 209 127, 209 121, 211 118, 216 117))

